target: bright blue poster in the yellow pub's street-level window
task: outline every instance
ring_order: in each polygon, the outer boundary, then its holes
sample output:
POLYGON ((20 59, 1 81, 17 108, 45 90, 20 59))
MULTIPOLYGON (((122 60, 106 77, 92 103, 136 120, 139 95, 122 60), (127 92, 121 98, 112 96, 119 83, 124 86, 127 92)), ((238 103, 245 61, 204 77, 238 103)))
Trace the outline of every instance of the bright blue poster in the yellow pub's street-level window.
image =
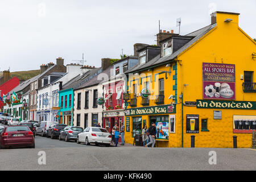
POLYGON ((169 139, 169 122, 160 121, 155 123, 156 139, 169 139))

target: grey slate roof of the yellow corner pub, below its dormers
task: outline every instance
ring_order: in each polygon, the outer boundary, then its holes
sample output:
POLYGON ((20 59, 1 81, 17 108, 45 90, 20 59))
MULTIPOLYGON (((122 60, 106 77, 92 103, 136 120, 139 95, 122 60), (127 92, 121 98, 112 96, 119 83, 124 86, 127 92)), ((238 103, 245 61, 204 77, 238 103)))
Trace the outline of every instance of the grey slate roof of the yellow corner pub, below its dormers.
POLYGON ((187 49, 193 43, 195 43, 197 40, 202 38, 205 34, 207 34, 207 32, 212 30, 212 28, 214 28, 214 27, 216 27, 216 24, 210 24, 209 26, 206 26, 206 27, 201 28, 197 31, 191 32, 190 34, 187 34, 186 36, 195 36, 195 38, 191 39, 191 41, 189 41, 183 47, 178 49, 176 52, 172 53, 169 56, 165 56, 165 57, 160 57, 160 55, 158 55, 154 59, 148 61, 145 64, 137 64, 133 68, 130 68, 129 70, 127 70, 125 72, 125 74, 135 73, 135 72, 141 71, 143 69, 147 69, 147 68, 152 67, 152 66, 157 66, 157 65, 160 65, 160 64, 167 63, 168 61, 171 61, 171 60, 175 59, 181 52, 185 51, 185 49, 187 49))

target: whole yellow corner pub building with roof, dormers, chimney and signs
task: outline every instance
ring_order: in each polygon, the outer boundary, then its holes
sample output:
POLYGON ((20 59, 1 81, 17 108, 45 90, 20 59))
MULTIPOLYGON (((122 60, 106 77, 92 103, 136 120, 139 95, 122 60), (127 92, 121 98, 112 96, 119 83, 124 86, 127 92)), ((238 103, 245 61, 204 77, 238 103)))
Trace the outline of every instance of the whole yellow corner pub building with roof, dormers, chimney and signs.
POLYGON ((169 33, 160 47, 138 51, 139 64, 126 72, 126 143, 155 122, 159 147, 191 147, 193 139, 195 147, 233 147, 234 136, 237 147, 251 147, 256 46, 238 15, 216 11, 209 26, 185 36, 169 33))

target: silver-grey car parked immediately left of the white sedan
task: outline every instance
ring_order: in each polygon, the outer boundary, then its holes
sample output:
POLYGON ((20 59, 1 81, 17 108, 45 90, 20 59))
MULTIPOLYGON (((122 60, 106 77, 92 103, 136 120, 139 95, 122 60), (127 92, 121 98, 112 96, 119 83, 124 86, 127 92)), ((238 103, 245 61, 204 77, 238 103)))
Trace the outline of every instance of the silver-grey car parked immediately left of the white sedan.
POLYGON ((69 140, 75 140, 77 135, 80 134, 84 129, 79 126, 66 126, 62 131, 60 131, 59 140, 65 139, 66 142, 69 140))

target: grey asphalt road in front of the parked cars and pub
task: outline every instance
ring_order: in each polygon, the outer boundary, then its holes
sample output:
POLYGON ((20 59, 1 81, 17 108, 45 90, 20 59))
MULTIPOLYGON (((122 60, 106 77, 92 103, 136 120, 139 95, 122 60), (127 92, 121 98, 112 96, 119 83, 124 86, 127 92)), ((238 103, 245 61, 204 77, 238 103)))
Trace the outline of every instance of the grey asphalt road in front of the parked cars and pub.
POLYGON ((256 150, 246 148, 103 147, 36 136, 35 148, 0 150, 0 170, 256 170, 255 159, 256 150), (209 151, 217 164, 209 164, 209 151))

